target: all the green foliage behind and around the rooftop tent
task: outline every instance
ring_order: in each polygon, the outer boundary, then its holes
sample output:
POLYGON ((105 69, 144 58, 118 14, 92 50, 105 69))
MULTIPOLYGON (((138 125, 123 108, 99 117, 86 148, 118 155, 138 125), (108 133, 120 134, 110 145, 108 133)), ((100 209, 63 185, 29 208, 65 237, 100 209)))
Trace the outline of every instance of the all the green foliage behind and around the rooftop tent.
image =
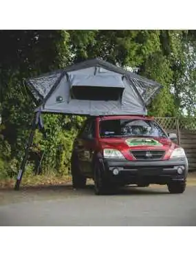
MULTIPOLYGON (((195 115, 195 30, 0 30, 0 179, 17 175, 34 104, 23 79, 99 57, 164 86, 149 115, 195 115)), ((44 115, 27 173, 69 173, 72 143, 84 117, 44 115)))

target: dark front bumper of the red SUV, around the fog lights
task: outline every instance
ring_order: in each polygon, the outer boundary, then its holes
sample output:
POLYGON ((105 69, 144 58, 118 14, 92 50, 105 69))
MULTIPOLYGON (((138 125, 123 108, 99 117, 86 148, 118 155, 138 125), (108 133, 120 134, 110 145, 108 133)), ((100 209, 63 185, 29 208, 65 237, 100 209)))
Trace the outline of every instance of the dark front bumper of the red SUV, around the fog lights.
POLYGON ((170 181, 185 181, 188 174, 186 158, 161 161, 128 161, 126 159, 103 159, 105 177, 119 184, 168 184, 170 181), (183 173, 177 173, 182 166, 183 173), (113 175, 113 168, 119 170, 113 175))

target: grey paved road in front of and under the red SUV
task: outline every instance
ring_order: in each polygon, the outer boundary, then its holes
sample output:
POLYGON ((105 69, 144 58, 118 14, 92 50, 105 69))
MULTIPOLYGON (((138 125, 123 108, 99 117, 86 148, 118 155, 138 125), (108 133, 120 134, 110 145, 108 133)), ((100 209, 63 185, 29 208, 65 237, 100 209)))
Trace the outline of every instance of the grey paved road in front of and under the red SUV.
POLYGON ((0 190, 0 226, 196 226, 196 186, 122 188, 96 196, 92 186, 0 190))

